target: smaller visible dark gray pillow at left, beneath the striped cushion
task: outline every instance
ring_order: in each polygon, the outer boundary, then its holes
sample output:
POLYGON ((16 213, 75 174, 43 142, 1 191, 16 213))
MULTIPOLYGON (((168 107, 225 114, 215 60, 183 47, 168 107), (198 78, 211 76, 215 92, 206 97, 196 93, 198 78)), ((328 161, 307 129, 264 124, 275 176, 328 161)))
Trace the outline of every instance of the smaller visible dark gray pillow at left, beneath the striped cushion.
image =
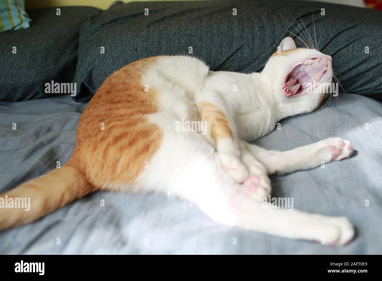
POLYGON ((79 28, 99 9, 28 10, 32 25, 0 34, 0 101, 47 97, 45 83, 70 83, 77 61, 79 28), (16 47, 16 54, 13 54, 16 47))

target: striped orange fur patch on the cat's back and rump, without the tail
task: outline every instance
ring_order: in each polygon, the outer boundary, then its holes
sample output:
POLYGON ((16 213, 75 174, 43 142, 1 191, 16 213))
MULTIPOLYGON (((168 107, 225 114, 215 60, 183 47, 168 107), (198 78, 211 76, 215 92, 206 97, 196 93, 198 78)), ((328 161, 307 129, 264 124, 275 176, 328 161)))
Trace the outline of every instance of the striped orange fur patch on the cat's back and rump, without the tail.
POLYGON ((139 83, 155 60, 139 60, 110 75, 81 115, 69 164, 94 186, 133 185, 160 146, 162 132, 145 116, 157 112, 158 93, 152 87, 144 91, 139 83))

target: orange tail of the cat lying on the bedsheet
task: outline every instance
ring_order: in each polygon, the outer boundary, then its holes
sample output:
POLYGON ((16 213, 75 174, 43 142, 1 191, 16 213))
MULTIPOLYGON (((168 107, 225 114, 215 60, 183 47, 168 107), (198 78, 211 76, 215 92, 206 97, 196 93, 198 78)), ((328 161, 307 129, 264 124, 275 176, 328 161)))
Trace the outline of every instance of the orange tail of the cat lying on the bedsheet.
POLYGON ((0 194, 0 231, 34 221, 95 188, 65 165, 0 194))

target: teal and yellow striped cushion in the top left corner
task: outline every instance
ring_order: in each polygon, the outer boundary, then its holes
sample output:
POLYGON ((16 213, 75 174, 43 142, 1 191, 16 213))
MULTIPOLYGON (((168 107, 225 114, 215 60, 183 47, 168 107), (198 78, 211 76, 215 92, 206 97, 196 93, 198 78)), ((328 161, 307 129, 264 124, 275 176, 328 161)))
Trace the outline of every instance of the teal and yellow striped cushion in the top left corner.
POLYGON ((24 0, 0 0, 0 32, 28 28, 31 22, 24 0))

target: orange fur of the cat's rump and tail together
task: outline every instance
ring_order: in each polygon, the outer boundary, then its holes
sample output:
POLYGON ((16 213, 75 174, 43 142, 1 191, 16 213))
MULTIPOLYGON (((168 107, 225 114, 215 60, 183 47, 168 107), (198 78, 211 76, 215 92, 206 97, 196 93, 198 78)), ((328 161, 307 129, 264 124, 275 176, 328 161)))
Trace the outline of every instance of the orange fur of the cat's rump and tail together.
POLYGON ((156 59, 133 62, 105 80, 81 115, 76 147, 64 167, 0 195, 31 198, 30 211, 0 208, 0 230, 33 221, 95 190, 137 184, 162 140, 160 128, 146 117, 157 112, 159 93, 152 87, 146 92, 140 84, 143 71, 156 59))

